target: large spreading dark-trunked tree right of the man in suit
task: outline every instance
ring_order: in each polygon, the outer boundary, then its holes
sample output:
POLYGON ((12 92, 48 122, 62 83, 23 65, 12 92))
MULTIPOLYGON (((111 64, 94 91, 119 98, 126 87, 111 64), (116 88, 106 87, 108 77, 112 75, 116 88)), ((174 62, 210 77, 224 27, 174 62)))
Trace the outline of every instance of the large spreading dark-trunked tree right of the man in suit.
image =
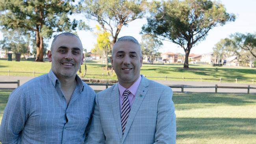
POLYGON ((223 4, 210 0, 152 1, 149 11, 151 16, 141 32, 183 48, 184 68, 189 68, 191 48, 206 39, 211 29, 235 20, 235 15, 227 13, 223 4))

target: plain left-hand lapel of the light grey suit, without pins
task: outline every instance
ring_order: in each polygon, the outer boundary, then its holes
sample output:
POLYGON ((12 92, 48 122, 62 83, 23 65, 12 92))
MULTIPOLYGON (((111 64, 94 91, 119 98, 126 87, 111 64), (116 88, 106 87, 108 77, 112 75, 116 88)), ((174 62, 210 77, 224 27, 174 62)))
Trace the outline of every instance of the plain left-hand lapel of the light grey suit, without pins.
POLYGON ((113 92, 111 94, 111 104, 112 104, 112 111, 114 115, 115 125, 117 127, 117 132, 121 141, 122 127, 121 127, 121 116, 120 116, 119 90, 118 90, 117 84, 114 85, 113 92))

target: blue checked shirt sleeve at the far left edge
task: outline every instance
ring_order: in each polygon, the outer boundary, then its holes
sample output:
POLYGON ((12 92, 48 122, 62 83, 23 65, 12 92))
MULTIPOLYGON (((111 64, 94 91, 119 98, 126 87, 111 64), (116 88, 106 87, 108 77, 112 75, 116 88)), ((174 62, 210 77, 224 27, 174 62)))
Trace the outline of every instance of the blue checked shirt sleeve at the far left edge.
POLYGON ((29 101, 27 96, 20 87, 10 94, 0 126, 2 144, 17 144, 28 118, 29 101))

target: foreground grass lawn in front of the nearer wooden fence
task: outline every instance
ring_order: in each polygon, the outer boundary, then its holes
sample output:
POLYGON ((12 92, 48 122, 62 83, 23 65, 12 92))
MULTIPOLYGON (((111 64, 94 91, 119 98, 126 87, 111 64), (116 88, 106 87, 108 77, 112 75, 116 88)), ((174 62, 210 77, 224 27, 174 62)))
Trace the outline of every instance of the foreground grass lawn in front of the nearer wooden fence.
MULTIPOLYGON (((0 119, 11 90, 0 90, 0 119)), ((177 144, 255 144, 256 96, 174 93, 177 144)))

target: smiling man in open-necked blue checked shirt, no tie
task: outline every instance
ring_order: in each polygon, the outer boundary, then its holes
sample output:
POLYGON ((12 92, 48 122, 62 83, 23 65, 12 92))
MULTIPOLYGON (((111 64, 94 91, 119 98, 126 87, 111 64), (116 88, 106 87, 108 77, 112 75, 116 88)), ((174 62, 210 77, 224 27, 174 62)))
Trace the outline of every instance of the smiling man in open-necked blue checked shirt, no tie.
POLYGON ((0 127, 2 144, 84 143, 95 92, 76 74, 83 63, 82 43, 72 33, 61 33, 47 55, 50 72, 10 94, 0 127))

